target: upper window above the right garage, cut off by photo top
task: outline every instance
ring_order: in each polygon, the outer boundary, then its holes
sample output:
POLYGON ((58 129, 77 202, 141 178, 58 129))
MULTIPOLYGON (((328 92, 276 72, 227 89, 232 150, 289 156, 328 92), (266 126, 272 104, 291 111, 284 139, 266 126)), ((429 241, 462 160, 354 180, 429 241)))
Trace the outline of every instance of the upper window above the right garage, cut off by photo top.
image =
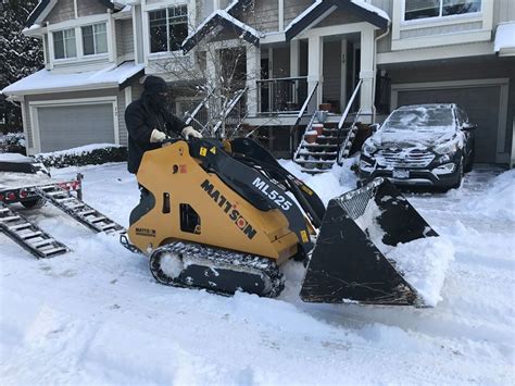
POLYGON ((404 0, 404 4, 405 21, 481 11, 481 0, 404 0))

